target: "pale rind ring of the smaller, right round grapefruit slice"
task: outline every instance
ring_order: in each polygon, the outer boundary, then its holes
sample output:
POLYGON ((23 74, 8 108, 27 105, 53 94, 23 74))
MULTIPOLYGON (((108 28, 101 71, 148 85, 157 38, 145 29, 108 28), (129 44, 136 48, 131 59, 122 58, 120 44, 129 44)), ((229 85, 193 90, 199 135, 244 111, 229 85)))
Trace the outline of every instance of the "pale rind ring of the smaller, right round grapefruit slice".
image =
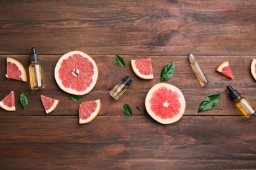
MULTIPOLYGON (((170 103, 171 104, 171 103, 170 103)), ((148 112, 148 114, 157 122, 159 122, 160 124, 173 124, 175 122, 177 122, 178 120, 181 119, 181 117, 183 116, 185 109, 186 109, 186 101, 184 98, 183 93, 181 92, 181 90, 179 90, 179 88, 177 88, 176 86, 173 86, 171 84, 167 84, 165 82, 160 82, 158 84, 155 84, 147 93, 146 95, 146 99, 145 99, 145 107, 146 110, 148 112), (181 103, 181 108, 179 111, 179 114, 177 114, 176 116, 174 116, 173 118, 167 118, 167 119, 162 119, 159 116, 156 116, 156 114, 154 114, 154 112, 150 109, 150 99, 152 98, 152 94, 158 90, 161 87, 165 87, 168 90, 172 90, 174 92, 177 92, 179 94, 179 103, 181 103)))

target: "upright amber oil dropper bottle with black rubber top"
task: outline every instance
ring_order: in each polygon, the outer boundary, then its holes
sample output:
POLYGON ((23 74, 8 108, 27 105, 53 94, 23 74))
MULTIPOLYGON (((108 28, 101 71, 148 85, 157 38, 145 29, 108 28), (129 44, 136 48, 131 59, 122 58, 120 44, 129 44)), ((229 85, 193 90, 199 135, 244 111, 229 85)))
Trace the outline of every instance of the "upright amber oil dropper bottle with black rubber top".
POLYGON ((31 51, 31 64, 28 67, 28 71, 30 73, 30 87, 32 90, 43 89, 45 88, 45 80, 43 78, 43 67, 39 63, 39 56, 37 55, 35 48, 32 47, 31 51))

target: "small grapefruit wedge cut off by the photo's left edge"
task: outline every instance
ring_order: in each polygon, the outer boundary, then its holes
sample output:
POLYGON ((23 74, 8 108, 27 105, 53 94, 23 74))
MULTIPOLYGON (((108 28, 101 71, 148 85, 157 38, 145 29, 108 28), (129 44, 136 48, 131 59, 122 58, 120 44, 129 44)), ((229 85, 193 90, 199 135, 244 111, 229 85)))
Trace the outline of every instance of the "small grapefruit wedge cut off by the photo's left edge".
POLYGON ((14 92, 11 91, 9 95, 5 96, 2 101, 0 101, 0 107, 7 111, 15 111, 15 97, 14 92))

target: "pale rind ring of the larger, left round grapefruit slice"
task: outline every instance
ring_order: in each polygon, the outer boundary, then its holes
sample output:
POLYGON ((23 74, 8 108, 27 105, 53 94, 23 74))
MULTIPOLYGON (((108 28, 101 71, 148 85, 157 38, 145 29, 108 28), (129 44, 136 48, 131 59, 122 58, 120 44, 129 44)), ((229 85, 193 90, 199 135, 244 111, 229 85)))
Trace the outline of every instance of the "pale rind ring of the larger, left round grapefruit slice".
POLYGON ((60 57, 60 59, 58 59, 58 62, 56 63, 56 66, 55 66, 55 69, 54 69, 54 77, 55 77, 56 83, 58 84, 60 89, 62 89, 64 92, 74 94, 74 95, 85 95, 86 93, 89 93, 89 92, 91 92, 91 90, 93 90, 93 88, 94 88, 94 86, 95 86, 95 84, 98 80, 98 67, 97 67, 95 61, 93 60, 93 58, 91 58, 89 55, 85 54, 84 52, 71 51, 71 52, 68 52, 68 53, 64 54, 63 56, 60 57), (94 66, 94 68, 93 68, 94 75, 91 77, 93 79, 93 82, 91 83, 91 85, 86 90, 81 91, 81 92, 78 92, 77 90, 74 90, 72 88, 66 88, 62 84, 62 80, 60 80, 59 73, 58 73, 58 70, 61 67, 62 61, 64 59, 68 59, 70 56, 73 56, 74 54, 79 54, 79 55, 83 56, 84 58, 89 59, 89 61, 94 66))

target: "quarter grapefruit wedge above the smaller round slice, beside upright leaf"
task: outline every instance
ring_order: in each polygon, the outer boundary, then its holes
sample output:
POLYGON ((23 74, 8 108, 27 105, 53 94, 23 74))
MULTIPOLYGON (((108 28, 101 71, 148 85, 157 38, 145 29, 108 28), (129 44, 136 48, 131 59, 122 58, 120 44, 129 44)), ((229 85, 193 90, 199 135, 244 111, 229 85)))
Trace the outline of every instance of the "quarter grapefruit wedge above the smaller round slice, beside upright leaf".
POLYGON ((135 75, 144 80, 152 80, 154 78, 152 63, 150 58, 131 59, 131 68, 135 75))

